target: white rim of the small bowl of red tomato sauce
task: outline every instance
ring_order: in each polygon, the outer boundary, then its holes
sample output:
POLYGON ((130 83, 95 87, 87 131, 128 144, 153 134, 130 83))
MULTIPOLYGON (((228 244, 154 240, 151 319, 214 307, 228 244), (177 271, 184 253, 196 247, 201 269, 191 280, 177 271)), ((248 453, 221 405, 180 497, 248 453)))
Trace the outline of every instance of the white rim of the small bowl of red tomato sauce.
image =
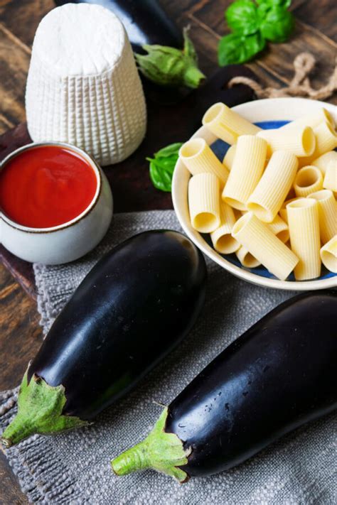
POLYGON ((89 154, 87 154, 81 148, 79 148, 77 146, 73 146, 72 144, 66 143, 66 142, 43 141, 43 142, 28 143, 25 146, 21 146, 18 149, 16 149, 15 151, 12 151, 11 153, 9 153, 6 156, 6 158, 4 158, 3 161, 1 161, 1 163, 0 163, 0 170, 2 170, 4 168, 4 166, 6 165, 6 163, 8 163, 9 161, 11 161, 12 158, 15 158, 16 156, 18 156, 18 154, 20 154, 21 152, 27 151, 28 149, 33 149, 33 148, 36 148, 36 147, 41 147, 41 146, 64 147, 64 148, 67 148, 69 151, 74 151, 75 153, 77 153, 80 156, 82 156, 82 158, 84 158, 85 161, 87 161, 87 163, 90 164, 92 170, 94 170, 94 172, 95 172, 96 180, 97 180, 97 188, 96 188, 96 191, 95 191, 95 195, 93 196, 90 204, 85 208, 85 210, 83 210, 78 216, 74 217, 70 221, 67 221, 67 222, 62 223, 62 224, 58 224, 57 226, 54 226, 54 227, 49 227, 49 228, 27 227, 27 226, 24 226, 23 224, 17 223, 16 221, 13 221, 13 219, 10 219, 10 217, 8 217, 6 214, 4 214, 4 212, 1 212, 1 218, 4 219, 4 221, 7 224, 9 224, 9 226, 11 226, 12 228, 20 229, 21 231, 27 232, 27 233, 50 233, 50 232, 57 232, 60 229, 68 228, 68 227, 72 226, 73 224, 79 222, 83 217, 85 217, 86 215, 88 215, 92 211, 92 209, 95 207, 95 205, 96 205, 96 203, 98 201, 98 198, 100 197, 100 192, 101 192, 101 189, 102 189, 102 177, 101 177, 101 174, 100 174, 100 167, 99 167, 99 165, 97 165, 97 163, 94 160, 94 158, 92 158, 89 154))

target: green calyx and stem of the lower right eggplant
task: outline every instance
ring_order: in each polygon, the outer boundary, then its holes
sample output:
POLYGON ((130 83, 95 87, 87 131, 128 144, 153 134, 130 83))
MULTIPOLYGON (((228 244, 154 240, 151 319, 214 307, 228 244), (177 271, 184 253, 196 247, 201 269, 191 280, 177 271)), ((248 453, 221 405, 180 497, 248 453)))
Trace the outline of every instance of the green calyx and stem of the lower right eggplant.
POLYGON ((145 440, 112 460, 111 465, 115 474, 121 476, 137 470, 153 468, 170 475, 181 484, 188 481, 188 474, 180 467, 187 465, 192 449, 191 447, 184 449, 183 442, 175 433, 165 432, 168 412, 168 408, 164 408, 145 440))

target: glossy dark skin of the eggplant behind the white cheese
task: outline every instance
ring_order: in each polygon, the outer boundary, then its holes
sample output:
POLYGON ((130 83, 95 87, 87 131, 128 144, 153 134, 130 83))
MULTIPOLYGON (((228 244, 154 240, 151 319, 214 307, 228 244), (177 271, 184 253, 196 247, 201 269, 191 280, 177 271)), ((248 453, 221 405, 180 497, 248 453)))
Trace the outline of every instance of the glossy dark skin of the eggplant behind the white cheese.
MULTIPOLYGON (((68 4, 69 0, 56 0, 55 4, 68 4)), ((159 0, 73 0, 74 4, 99 4, 114 12, 122 21, 132 47, 141 52, 144 44, 183 47, 181 31, 161 8, 159 0)))

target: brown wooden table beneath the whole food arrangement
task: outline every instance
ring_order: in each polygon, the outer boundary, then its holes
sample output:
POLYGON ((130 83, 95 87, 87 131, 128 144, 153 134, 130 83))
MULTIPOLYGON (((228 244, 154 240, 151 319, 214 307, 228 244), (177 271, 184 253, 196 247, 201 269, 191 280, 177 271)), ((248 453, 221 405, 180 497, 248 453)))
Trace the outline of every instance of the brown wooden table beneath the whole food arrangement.
MULTIPOLYGON (((210 75, 217 66, 218 40, 226 32, 223 11, 230 0, 161 0, 180 26, 191 24, 200 66, 210 75)), ((25 119, 24 92, 36 26, 53 8, 53 0, 0 0, 0 134, 25 119)), ((248 66, 266 85, 288 85, 292 62, 302 51, 317 60, 312 82, 323 85, 337 53, 335 0, 293 0, 296 31, 287 44, 269 45, 248 66)), ((330 100, 337 104, 336 95, 330 100)), ((0 390, 16 386, 41 344, 36 303, 0 265, 0 390)), ((16 477, 0 452, 0 504, 26 504, 16 477)))

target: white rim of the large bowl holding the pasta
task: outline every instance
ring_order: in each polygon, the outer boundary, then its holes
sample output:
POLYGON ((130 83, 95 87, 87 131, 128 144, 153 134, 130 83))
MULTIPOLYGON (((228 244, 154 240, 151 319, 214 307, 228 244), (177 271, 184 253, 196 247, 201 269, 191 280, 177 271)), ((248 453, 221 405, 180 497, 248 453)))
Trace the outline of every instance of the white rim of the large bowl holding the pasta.
MULTIPOLYGON (((336 107, 332 104, 328 104, 326 102, 319 102, 316 100, 306 99, 306 98, 267 98, 255 100, 252 102, 246 102, 244 104, 237 105, 232 107, 232 109, 240 114, 243 114, 247 119, 254 122, 260 121, 286 121, 296 119, 296 112, 294 111, 303 111, 310 104, 311 109, 314 107, 324 107, 328 109, 331 114, 333 114, 333 119, 336 121, 336 107), (266 107, 269 112, 269 116, 265 117, 264 111, 266 107), (282 116, 283 114, 283 116, 282 116), (294 115, 295 114, 295 115, 294 115), (249 116, 249 117, 247 117, 249 116), (256 117, 257 116, 257 117, 256 117), (282 116, 282 117, 280 117, 282 116)), ((301 114, 304 114, 301 112, 301 114)), ((299 114, 297 115, 299 116, 299 114)), ((206 142, 210 145, 212 144, 217 137, 212 134, 209 130, 205 128, 205 126, 201 126, 198 131, 191 137, 203 137, 206 142)), ((235 275, 236 277, 242 278, 245 281, 249 281, 250 283, 257 284, 258 286, 264 286, 266 288, 276 288, 276 289, 284 289, 284 290, 294 290, 294 291, 306 291, 306 290, 318 290, 318 289, 327 289, 327 288, 336 288, 337 286, 337 278, 336 276, 332 276, 325 279, 316 279, 313 281, 280 281, 277 278, 267 278, 257 275, 257 273, 253 273, 245 270, 240 266, 236 266, 232 264, 230 261, 225 259, 224 256, 215 251, 212 247, 208 245, 208 243, 203 239, 203 237, 195 232, 191 224, 186 222, 178 204, 178 192, 180 190, 180 184, 178 180, 178 173, 181 172, 181 168, 178 166, 180 160, 178 159, 176 163, 176 167, 173 172, 173 180, 172 180, 172 200, 173 207, 178 217, 178 221, 183 228, 183 231, 186 235, 193 241, 198 248, 203 251, 203 253, 208 256, 210 259, 213 259, 215 263, 225 268, 227 271, 235 275)), ((187 169, 186 169, 187 170, 187 169)))

